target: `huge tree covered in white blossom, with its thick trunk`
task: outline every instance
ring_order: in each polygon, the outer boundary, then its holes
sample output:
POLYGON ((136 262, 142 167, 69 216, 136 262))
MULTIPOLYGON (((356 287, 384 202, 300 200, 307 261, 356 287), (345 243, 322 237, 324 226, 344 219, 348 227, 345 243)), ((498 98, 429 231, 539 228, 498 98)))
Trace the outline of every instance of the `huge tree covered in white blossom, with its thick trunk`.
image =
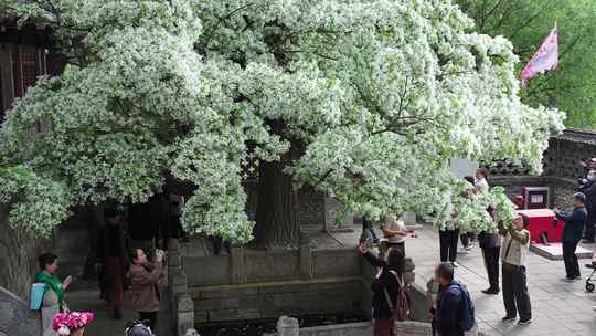
POLYGON ((490 200, 458 201, 449 159, 538 172, 563 127, 560 112, 520 103, 509 41, 473 33, 447 0, 2 3, 51 27, 70 62, 0 133, 1 200, 42 233, 75 204, 145 201, 167 174, 196 186, 188 229, 264 246, 297 241, 305 185, 373 219, 411 210, 445 225, 459 207, 473 222, 490 200), (32 135, 40 123, 51 127, 32 135), (256 225, 248 146, 262 161, 256 225))

